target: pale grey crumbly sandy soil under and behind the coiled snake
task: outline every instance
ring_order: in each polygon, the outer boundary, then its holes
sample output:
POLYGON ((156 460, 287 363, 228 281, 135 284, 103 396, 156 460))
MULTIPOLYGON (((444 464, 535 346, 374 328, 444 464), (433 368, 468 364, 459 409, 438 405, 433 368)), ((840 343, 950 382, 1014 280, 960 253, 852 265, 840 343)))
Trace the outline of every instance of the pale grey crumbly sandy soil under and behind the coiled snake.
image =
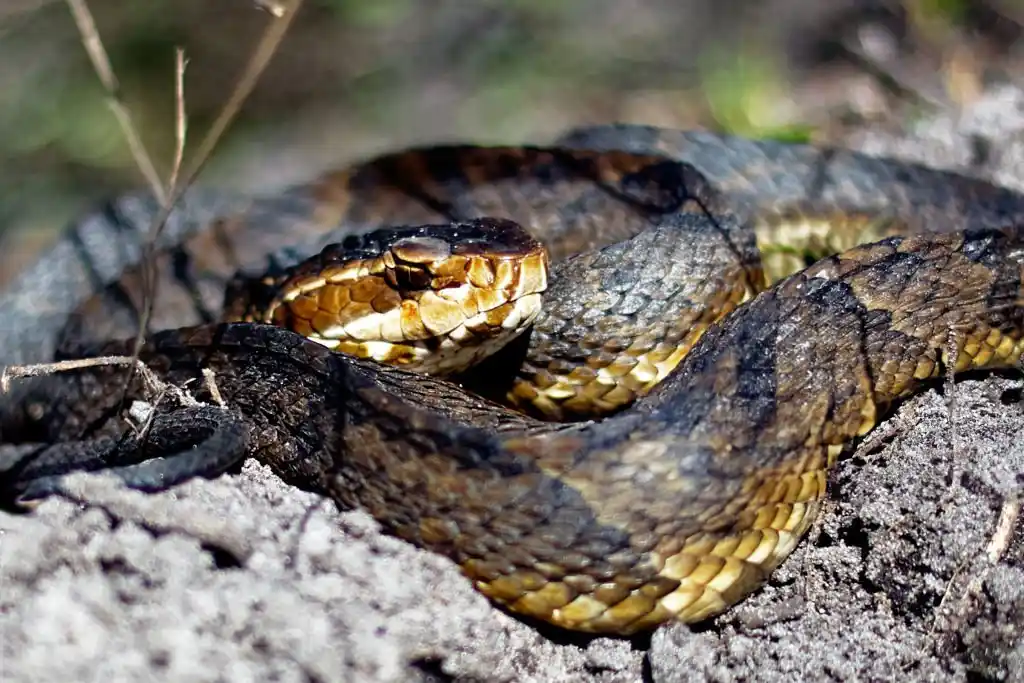
MULTIPOLYGON (((852 144, 1021 186, 1021 131, 1024 95, 1001 90, 852 144)), ((0 679, 1024 680, 1022 393, 1009 374, 958 382, 951 411, 941 388, 908 400, 769 586, 633 641, 522 624, 255 463, 158 496, 79 475, 0 513, 0 679)))

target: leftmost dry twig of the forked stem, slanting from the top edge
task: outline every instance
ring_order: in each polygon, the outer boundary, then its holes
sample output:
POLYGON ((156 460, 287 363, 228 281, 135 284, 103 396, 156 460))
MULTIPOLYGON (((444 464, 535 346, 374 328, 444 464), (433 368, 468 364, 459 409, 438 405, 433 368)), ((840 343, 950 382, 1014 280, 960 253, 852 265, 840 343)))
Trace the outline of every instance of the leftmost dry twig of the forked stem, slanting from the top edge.
POLYGON ((138 166, 139 172, 142 173, 154 196, 161 204, 166 204, 168 193, 160 182, 160 175, 157 173, 157 167, 153 163, 153 157, 150 156, 145 144, 142 143, 138 128, 135 126, 134 121, 132 121, 131 112, 121 99, 121 84, 118 82, 114 68, 111 66, 111 59, 106 54, 106 49, 103 47, 103 42, 99 38, 99 32, 96 30, 96 22, 92 17, 92 12, 89 11, 89 6, 85 0, 67 0, 67 2, 72 16, 75 17, 75 25, 78 27, 78 32, 81 36, 82 46, 85 48, 86 54, 89 55, 90 61, 92 61, 92 68, 95 70, 100 84, 106 91, 111 111, 121 126, 132 159, 135 160, 135 165, 138 166))

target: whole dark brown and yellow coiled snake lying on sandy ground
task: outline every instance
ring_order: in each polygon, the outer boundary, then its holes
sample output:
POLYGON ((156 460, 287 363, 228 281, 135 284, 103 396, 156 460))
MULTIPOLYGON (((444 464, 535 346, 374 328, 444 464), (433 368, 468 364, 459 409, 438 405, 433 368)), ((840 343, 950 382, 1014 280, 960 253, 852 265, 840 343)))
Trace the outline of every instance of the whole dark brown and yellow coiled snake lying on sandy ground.
MULTIPOLYGON (((122 198, 15 279, 3 361, 130 354, 156 211, 122 198)), ((767 581, 896 402, 1020 366, 1022 217, 1024 197, 967 175, 635 124, 387 153, 262 198, 197 190, 158 242, 147 372, 15 382, 0 494, 76 469, 160 490, 252 457, 519 616, 699 622, 767 581), (398 301, 398 281, 446 294, 398 301), (342 300, 357 314, 325 322, 342 300), (428 329, 454 342, 398 334, 428 329), (440 376, 409 367, 452 344, 427 361, 440 376), (184 397, 153 401, 154 381, 184 397)))

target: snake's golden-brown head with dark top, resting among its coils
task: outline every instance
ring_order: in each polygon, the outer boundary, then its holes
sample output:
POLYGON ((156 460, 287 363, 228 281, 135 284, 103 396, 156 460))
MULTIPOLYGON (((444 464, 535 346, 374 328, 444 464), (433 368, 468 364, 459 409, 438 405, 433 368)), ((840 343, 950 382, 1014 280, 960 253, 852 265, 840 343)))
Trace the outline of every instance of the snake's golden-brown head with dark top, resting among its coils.
POLYGON ((462 372, 541 311, 548 254, 517 223, 395 227, 327 247, 250 319, 416 372, 462 372))

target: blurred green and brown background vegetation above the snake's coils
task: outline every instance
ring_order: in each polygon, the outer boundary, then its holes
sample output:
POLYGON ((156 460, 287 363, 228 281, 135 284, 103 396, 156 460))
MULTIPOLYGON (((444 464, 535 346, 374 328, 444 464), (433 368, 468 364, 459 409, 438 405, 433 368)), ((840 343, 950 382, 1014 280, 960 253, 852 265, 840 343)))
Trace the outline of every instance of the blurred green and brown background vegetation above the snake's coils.
MULTIPOLYGON (((200 139, 271 20, 258 0, 90 0, 146 145, 200 139)), ((200 182, 272 190, 444 140, 633 121, 842 143, 1024 77, 1021 0, 306 0, 200 182)), ((0 284, 141 186, 62 0, 0 0, 0 284)))

